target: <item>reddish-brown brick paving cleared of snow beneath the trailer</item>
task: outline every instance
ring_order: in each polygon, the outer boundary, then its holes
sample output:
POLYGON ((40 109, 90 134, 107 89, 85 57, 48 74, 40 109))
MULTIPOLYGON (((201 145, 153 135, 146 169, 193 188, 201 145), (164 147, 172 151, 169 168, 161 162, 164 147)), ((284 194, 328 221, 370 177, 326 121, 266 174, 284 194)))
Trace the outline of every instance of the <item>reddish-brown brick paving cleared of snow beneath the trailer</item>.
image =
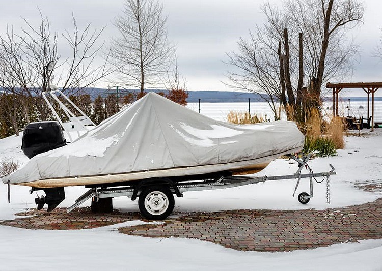
MULTIPOLYGON (((139 213, 92 214, 80 208, 19 214, 0 225, 28 229, 83 229, 144 220, 139 213)), ((346 208, 326 210, 230 210, 214 213, 178 213, 164 224, 123 227, 119 231, 147 237, 197 238, 226 248, 252 251, 290 251, 335 243, 382 238, 382 198, 346 208)))

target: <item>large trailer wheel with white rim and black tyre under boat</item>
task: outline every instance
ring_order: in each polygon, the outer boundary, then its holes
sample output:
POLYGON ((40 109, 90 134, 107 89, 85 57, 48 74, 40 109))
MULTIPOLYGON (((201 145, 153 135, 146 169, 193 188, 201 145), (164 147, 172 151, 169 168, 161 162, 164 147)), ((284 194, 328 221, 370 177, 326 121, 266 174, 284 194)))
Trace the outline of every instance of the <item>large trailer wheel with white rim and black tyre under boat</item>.
POLYGON ((141 214, 151 220, 167 218, 173 212, 174 205, 174 195, 165 186, 148 187, 138 199, 141 214))

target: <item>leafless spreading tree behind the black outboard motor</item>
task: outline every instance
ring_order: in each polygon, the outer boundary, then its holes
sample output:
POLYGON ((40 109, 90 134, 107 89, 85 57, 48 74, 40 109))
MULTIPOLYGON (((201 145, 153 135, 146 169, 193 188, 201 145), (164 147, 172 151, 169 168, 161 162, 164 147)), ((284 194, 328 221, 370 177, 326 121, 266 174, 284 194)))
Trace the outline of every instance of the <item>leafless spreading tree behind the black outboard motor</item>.
POLYGON ((97 45, 103 31, 91 31, 90 24, 84 31, 78 31, 76 20, 73 17, 73 33, 66 31, 62 37, 71 49, 71 56, 61 60, 58 54, 58 33, 51 34, 47 18, 40 12, 41 21, 36 27, 24 19, 25 28, 20 33, 8 29, 6 35, 0 35, 0 57, 12 72, 10 80, 16 82, 13 92, 24 95, 34 101, 41 120, 49 115, 47 105, 42 100, 42 93, 48 91, 50 81, 61 85, 62 90, 69 95, 94 85, 98 80, 111 74, 113 70, 106 68, 104 63, 95 65, 95 58, 103 44, 97 45), (46 65, 53 61, 56 70, 53 74, 46 65))

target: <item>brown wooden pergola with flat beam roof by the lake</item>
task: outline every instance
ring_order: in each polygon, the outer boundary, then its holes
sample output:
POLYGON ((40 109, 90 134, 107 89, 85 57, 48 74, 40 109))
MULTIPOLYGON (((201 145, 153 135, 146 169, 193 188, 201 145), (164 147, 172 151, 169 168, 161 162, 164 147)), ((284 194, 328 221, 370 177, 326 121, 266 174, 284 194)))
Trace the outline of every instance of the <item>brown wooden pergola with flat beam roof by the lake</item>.
POLYGON ((338 93, 344 88, 362 88, 367 93, 367 118, 369 119, 371 94, 371 131, 374 131, 374 93, 382 87, 382 82, 372 83, 327 83, 326 88, 333 89, 333 115, 338 116, 338 93))

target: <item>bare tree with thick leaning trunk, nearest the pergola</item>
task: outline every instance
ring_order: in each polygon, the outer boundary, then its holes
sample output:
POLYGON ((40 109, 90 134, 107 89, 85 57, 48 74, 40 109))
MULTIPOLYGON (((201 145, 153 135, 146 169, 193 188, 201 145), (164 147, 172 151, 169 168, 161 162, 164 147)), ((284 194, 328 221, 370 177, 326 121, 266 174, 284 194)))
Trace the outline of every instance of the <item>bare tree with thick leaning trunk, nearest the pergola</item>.
POLYGON ((323 82, 352 70, 358 46, 347 34, 362 22, 363 4, 356 0, 286 0, 285 12, 304 33, 306 75, 312 105, 317 105, 323 82))

